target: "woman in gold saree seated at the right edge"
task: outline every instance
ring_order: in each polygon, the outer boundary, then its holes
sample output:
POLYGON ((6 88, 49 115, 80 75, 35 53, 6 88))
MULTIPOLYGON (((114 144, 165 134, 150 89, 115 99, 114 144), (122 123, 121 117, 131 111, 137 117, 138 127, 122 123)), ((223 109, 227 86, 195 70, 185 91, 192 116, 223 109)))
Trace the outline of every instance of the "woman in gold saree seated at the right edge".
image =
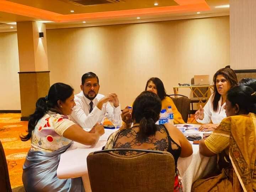
POLYGON ((256 190, 256 93, 239 85, 228 91, 226 116, 217 129, 199 143, 204 156, 217 155, 219 175, 193 183, 192 191, 256 190))

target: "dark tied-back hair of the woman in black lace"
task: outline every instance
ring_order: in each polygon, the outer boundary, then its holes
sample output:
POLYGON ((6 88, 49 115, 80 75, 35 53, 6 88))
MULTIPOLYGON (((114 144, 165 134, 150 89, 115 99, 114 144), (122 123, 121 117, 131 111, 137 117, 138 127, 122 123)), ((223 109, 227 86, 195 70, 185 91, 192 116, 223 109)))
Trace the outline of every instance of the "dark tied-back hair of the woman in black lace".
POLYGON ((133 103, 132 119, 139 123, 139 139, 154 135, 157 127, 155 122, 159 119, 162 108, 158 95, 150 91, 143 91, 133 103))

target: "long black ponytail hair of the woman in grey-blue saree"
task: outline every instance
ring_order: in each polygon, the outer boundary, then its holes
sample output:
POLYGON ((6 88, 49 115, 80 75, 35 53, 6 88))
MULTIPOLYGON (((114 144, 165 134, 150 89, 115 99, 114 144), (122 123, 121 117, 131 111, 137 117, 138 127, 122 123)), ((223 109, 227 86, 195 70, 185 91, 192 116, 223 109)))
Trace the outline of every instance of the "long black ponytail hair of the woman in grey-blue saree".
POLYGON ((53 84, 46 97, 40 97, 36 102, 36 110, 30 115, 28 121, 28 134, 22 135, 20 138, 22 141, 27 141, 32 136, 32 131, 34 130, 37 121, 41 119, 47 111, 53 113, 59 113, 58 100, 65 102, 73 94, 74 89, 64 83, 53 84))

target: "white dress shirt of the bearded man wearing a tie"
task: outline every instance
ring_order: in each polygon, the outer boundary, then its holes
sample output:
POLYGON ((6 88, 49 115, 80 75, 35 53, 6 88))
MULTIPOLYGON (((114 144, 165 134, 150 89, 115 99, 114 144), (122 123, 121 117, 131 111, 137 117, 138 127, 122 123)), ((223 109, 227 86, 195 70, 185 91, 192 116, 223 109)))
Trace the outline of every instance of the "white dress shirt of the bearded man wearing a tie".
POLYGON ((70 115, 70 119, 79 124, 82 128, 92 128, 95 124, 101 123, 105 114, 119 113, 121 114, 121 107, 112 107, 109 102, 104 103, 102 109, 100 110, 96 105, 101 98, 105 97, 104 95, 97 94, 97 96, 92 100, 93 110, 90 111, 90 102, 88 98, 84 96, 84 93, 81 91, 79 94, 75 95, 76 106, 73 107, 73 112, 70 115))

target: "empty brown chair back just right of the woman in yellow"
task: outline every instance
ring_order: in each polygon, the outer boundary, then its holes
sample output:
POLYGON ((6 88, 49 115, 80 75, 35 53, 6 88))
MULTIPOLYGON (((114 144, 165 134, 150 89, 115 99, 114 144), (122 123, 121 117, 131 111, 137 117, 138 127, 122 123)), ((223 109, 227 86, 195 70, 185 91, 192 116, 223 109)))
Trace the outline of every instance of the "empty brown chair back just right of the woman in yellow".
POLYGON ((168 95, 168 96, 176 96, 176 98, 171 97, 172 101, 174 102, 177 110, 180 112, 182 119, 187 122, 188 115, 190 114, 190 99, 185 95, 168 95), (181 96, 181 97, 177 97, 181 96))

